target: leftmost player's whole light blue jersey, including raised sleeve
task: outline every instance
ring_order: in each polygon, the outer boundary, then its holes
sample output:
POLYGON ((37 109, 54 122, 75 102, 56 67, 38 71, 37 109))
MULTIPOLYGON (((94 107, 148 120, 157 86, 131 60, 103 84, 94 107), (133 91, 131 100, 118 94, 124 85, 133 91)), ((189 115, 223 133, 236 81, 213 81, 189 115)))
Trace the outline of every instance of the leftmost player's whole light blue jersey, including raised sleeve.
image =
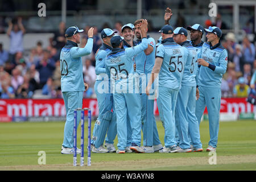
POLYGON ((61 92, 84 91, 84 78, 82 77, 81 56, 92 52, 93 39, 89 38, 84 48, 77 47, 77 43, 70 40, 60 52, 60 82, 61 92))

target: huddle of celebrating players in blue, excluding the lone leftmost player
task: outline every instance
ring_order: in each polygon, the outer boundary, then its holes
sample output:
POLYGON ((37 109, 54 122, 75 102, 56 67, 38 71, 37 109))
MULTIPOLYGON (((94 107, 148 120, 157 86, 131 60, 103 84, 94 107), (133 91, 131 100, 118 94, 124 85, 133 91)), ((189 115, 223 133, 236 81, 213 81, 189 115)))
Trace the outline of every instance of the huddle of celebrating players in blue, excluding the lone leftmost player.
POLYGON ((122 37, 110 28, 102 30, 103 44, 95 55, 99 115, 91 140, 93 152, 203 151, 199 125, 205 106, 210 131, 207 151, 216 150, 220 85, 228 60, 220 43, 221 30, 200 24, 174 30, 168 23, 171 16, 167 8, 158 44, 147 35, 146 19, 125 24, 122 37), (187 40, 187 30, 191 40, 187 40), (204 32, 205 43, 201 41, 204 32), (164 127, 164 146, 154 117, 155 98, 164 127))

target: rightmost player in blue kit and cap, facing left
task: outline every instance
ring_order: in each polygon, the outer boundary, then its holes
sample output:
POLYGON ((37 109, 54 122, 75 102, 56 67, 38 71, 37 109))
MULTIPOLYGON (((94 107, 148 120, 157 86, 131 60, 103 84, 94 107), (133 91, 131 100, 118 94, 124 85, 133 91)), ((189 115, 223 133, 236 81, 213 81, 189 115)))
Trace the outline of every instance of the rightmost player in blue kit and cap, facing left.
POLYGON ((196 101, 196 117, 200 123, 207 106, 209 115, 210 141, 207 151, 216 151, 218 142, 221 80, 228 64, 228 51, 221 45, 222 32, 218 27, 204 28, 207 42, 202 46, 197 64, 199 72, 199 100, 196 101))

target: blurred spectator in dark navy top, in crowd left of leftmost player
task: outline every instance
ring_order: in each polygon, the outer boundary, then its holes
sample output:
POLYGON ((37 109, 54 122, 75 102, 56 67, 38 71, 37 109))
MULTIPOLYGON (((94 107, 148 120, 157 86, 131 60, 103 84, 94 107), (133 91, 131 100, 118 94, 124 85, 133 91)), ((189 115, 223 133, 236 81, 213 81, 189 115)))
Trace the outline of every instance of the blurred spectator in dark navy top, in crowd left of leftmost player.
POLYGON ((36 64, 36 69, 39 72, 40 84, 39 88, 43 88, 47 79, 52 76, 55 69, 55 62, 49 59, 49 52, 44 51, 43 59, 36 64))

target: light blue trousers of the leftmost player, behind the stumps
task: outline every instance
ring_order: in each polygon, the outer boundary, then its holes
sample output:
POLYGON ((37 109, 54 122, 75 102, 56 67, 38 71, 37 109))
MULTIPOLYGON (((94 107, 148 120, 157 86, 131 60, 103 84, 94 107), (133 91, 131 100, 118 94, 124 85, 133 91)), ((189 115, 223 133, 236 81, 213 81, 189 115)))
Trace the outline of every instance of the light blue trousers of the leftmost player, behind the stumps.
MULTIPOLYGON (((63 92, 63 100, 67 113, 64 126, 63 147, 73 147, 73 127, 74 127, 74 110, 82 108, 82 91, 81 92, 63 92)), ((77 126, 81 120, 81 111, 77 111, 77 126)))

